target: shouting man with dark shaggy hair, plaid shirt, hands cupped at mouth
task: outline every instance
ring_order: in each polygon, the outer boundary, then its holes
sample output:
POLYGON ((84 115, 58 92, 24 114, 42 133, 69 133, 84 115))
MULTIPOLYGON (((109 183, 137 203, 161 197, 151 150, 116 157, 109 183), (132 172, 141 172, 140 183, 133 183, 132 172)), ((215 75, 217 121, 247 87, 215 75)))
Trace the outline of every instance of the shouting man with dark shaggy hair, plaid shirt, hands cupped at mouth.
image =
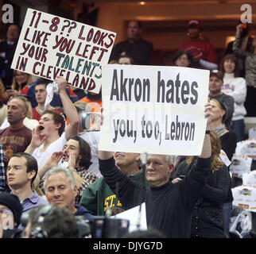
POLYGON ((52 167, 56 167, 58 164, 72 171, 77 187, 75 202, 78 205, 83 191, 98 179, 96 175, 87 171, 91 165, 91 148, 89 144, 81 137, 70 137, 64 145, 63 150, 53 152, 45 165, 39 169, 39 177, 42 179, 46 171, 52 167))

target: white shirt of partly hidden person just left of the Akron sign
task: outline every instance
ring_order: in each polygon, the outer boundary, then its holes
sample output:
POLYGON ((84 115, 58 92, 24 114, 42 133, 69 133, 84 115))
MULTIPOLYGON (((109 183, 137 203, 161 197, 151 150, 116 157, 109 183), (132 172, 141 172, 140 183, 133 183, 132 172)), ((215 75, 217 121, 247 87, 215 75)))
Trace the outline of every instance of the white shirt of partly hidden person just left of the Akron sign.
POLYGON ((79 133, 79 136, 91 147, 91 166, 88 168, 88 172, 102 177, 99 171, 99 132, 84 132, 79 133))

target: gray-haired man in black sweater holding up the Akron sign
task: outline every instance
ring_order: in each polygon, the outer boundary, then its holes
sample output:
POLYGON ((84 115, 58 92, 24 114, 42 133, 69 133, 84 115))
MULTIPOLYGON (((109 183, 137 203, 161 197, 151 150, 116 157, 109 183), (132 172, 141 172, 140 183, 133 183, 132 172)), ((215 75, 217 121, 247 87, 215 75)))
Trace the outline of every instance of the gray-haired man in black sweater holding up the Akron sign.
POLYGON ((118 170, 113 152, 99 151, 99 169, 112 191, 115 191, 118 184, 118 197, 125 210, 145 202, 148 227, 159 230, 165 237, 190 237, 192 211, 211 171, 211 111, 211 104, 207 103, 204 117, 208 118, 208 123, 202 152, 190 174, 178 183, 170 181, 175 156, 149 154, 145 160, 145 179, 149 187, 145 187, 132 182, 118 170))

